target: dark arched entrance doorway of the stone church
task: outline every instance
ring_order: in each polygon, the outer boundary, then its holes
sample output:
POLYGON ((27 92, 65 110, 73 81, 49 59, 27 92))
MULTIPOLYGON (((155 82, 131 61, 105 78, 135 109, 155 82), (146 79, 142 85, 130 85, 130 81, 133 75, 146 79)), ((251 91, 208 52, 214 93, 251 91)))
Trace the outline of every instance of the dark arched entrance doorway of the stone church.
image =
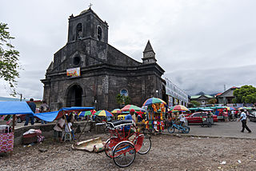
POLYGON ((66 97, 66 107, 82 106, 82 87, 73 85, 68 89, 66 97))

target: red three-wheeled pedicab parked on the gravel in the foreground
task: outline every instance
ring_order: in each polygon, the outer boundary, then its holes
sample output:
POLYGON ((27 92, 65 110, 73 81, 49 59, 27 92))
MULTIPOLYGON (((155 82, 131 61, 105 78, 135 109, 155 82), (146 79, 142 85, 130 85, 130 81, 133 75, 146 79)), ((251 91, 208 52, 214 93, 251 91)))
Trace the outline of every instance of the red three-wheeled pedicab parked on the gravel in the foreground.
POLYGON ((146 154, 150 151, 150 136, 139 133, 134 121, 106 122, 106 127, 110 131, 110 138, 106 141, 105 153, 107 157, 113 158, 115 165, 127 167, 134 162, 136 153, 146 154), (128 132, 125 126, 130 126, 128 132))

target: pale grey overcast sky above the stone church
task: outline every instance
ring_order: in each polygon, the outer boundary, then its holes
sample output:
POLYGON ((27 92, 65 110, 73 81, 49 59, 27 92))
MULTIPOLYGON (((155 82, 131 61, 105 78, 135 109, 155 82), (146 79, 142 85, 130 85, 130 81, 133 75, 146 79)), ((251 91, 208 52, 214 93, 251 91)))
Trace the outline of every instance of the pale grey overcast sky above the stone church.
MULTIPOLYGON (((162 78, 194 95, 256 85, 255 0, 0 0, 0 22, 20 52, 18 92, 42 99, 40 79, 66 45, 68 18, 92 10, 109 25, 109 44, 142 62, 150 40, 162 78)), ((0 96, 9 97, 0 80, 0 96)))

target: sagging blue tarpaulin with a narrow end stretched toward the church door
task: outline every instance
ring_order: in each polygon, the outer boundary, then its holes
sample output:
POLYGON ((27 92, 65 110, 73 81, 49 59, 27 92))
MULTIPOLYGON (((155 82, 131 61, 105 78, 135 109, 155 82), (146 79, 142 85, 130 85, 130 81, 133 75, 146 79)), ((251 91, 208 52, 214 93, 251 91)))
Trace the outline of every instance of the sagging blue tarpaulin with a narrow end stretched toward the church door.
POLYGON ((94 109, 94 107, 69 107, 69 108, 62 108, 58 111, 54 112, 46 112, 46 113, 34 113, 35 117, 38 117, 39 119, 42 119, 43 121, 54 121, 55 119, 58 119, 59 117, 62 117, 64 114, 62 111, 86 111, 94 109))

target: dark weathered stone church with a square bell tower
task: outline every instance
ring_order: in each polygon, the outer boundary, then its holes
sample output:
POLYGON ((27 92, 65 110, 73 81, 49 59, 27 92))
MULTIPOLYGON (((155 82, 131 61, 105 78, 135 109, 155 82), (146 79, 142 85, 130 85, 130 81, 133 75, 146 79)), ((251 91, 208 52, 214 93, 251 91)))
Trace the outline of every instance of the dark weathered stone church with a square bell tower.
POLYGON ((94 106, 114 109, 118 93, 142 106, 150 97, 162 97, 164 74, 148 41, 142 62, 108 44, 108 24, 90 8, 69 18, 68 39, 46 70, 43 99, 50 109, 94 106))

